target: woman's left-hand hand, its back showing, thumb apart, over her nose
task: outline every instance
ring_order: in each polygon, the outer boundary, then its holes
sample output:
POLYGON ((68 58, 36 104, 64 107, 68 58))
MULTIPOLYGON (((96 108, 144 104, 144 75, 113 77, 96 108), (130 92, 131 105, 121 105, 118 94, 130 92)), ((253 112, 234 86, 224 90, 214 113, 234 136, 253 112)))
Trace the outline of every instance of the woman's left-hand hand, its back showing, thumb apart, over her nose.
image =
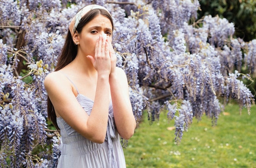
MULTIPOLYGON (((111 45, 112 46, 112 45, 111 45)), ((109 50, 109 43, 106 41, 102 35, 99 36, 95 45, 95 54, 94 57, 88 55, 92 62, 92 65, 97 70, 99 74, 107 74, 109 75, 112 68, 111 68, 111 57, 110 57, 110 50, 109 50)))

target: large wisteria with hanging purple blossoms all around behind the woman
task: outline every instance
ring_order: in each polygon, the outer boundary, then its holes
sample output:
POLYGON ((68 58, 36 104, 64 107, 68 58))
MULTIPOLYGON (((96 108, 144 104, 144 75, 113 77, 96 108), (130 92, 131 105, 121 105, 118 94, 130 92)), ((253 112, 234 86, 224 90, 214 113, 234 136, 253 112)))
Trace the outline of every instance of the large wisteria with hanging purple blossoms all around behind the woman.
POLYGON ((225 18, 195 21, 198 0, 0 0, 2 167, 56 166, 61 137, 47 128, 43 80, 54 71, 70 20, 92 3, 105 6, 114 19, 117 66, 127 74, 137 121, 145 108, 150 121, 168 110, 180 143, 193 117, 206 114, 216 123, 230 99, 250 112, 253 95, 239 78, 256 75, 256 41, 233 38, 234 24, 225 18), (252 74, 241 74, 242 66, 252 74), (37 146, 45 150, 34 155, 37 146))

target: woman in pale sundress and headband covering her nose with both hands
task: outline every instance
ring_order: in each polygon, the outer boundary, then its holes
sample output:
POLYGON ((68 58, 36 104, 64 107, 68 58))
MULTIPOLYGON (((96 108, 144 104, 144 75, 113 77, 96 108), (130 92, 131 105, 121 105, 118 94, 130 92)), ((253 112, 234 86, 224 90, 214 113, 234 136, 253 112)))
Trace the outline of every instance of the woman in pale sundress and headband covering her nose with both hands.
POLYGON ((116 67, 109 11, 89 5, 72 19, 55 72, 45 78, 48 117, 61 132, 59 168, 124 168, 119 135, 136 121, 124 71, 116 67))

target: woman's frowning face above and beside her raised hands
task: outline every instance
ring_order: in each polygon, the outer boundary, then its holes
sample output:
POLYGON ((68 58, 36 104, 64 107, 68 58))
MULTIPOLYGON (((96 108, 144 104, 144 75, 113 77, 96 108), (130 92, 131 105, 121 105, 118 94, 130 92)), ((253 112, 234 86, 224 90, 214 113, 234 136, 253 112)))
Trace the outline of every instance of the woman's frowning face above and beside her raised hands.
POLYGON ((103 15, 98 15, 88 22, 79 35, 79 48, 84 56, 94 56, 95 44, 99 35, 107 34, 112 42, 112 24, 103 15))

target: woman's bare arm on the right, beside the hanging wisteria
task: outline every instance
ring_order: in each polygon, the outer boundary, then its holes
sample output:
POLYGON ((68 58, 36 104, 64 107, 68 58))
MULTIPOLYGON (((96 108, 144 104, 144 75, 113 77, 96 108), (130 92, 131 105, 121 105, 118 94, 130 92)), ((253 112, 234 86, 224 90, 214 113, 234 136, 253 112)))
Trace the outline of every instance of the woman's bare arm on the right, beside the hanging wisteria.
POLYGON ((122 138, 129 139, 134 134, 136 121, 124 70, 116 67, 115 74, 110 75, 109 83, 117 131, 122 138))

